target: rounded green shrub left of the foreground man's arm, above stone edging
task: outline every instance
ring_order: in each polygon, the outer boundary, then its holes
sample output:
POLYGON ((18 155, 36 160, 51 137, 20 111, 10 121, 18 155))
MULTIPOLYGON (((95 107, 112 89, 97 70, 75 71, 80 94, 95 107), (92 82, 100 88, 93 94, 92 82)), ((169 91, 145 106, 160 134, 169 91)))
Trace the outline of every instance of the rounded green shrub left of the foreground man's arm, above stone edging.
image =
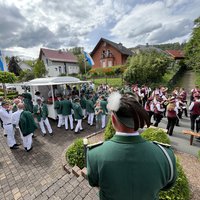
POLYGON ((84 145, 83 139, 77 139, 69 146, 66 152, 66 159, 71 166, 77 165, 80 169, 84 167, 84 145))

